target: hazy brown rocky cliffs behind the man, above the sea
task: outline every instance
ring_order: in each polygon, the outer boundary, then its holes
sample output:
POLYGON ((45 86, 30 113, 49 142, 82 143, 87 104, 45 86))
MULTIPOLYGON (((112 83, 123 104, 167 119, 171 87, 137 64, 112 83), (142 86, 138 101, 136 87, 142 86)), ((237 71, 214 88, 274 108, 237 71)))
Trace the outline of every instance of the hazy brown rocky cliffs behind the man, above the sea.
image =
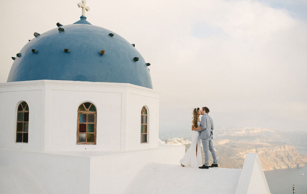
POLYGON ((307 132, 242 128, 216 130, 214 141, 220 153, 220 163, 226 168, 242 167, 246 153, 255 152, 258 153, 263 170, 274 170, 307 164, 307 156, 300 155, 295 148, 307 147, 306 140, 307 132), (233 160, 232 164, 229 158, 233 160))

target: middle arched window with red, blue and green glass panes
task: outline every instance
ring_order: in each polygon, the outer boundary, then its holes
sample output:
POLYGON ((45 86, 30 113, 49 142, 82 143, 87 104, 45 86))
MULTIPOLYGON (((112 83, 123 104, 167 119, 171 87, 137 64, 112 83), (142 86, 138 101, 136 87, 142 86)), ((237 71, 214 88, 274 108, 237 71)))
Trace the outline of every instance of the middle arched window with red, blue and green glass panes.
POLYGON ((77 144, 96 144, 96 107, 90 102, 78 108, 77 144))

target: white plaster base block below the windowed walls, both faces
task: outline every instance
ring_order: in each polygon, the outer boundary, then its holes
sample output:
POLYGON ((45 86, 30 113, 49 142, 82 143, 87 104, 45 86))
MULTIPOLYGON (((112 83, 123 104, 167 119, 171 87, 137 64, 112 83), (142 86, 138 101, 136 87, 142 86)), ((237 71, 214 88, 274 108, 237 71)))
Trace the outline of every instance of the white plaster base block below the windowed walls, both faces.
POLYGON ((0 167, 19 166, 35 177, 50 194, 122 193, 146 164, 179 165, 184 153, 184 146, 175 145, 129 152, 0 149, 0 167))

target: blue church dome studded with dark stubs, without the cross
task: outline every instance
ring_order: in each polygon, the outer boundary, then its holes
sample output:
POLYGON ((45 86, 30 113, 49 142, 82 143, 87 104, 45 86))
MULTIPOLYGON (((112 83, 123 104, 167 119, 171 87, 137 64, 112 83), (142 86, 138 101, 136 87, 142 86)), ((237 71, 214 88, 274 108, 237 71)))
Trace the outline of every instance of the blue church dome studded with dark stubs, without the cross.
POLYGON ((70 80, 130 83, 152 89, 142 55, 118 34, 86 17, 29 41, 17 54, 7 82, 70 80), (19 56, 19 57, 18 57, 19 56))

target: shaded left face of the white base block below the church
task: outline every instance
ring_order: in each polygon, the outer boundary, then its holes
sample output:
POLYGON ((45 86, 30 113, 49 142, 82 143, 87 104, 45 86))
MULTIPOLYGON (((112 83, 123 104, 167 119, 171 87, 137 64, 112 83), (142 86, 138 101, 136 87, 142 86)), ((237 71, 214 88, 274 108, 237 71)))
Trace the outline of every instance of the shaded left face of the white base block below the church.
MULTIPOLYGON (((20 167, 33 176, 47 193, 89 193, 90 159, 87 157, 3 149, 0 149, 0 156, 1 169, 11 165, 20 167)), ((9 175, 5 173, 5 176, 9 175)), ((16 176, 19 179, 19 175, 16 176)), ((32 183, 29 181, 28 184, 32 183)), ((26 189, 27 184, 24 185, 22 188, 26 189)))

